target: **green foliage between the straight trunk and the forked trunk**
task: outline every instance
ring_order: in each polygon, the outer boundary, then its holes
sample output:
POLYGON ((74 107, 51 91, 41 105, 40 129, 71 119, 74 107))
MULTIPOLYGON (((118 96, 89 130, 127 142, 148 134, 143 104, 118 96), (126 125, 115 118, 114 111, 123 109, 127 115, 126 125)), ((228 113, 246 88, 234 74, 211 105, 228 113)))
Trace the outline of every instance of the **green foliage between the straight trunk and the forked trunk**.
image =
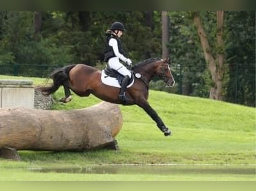
POLYGON ((182 85, 187 85, 187 95, 207 97, 208 95, 198 94, 207 86, 206 79, 203 78, 206 64, 196 30, 191 23, 191 16, 186 11, 173 11, 170 12, 170 19, 170 57, 172 67, 176 69, 180 79, 179 93, 184 91, 182 85))

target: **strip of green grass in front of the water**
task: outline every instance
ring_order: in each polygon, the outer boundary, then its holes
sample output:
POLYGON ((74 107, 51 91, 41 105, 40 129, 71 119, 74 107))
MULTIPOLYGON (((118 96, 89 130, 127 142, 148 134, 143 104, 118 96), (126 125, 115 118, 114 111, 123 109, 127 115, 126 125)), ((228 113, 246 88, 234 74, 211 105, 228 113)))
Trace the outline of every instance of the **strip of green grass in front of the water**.
POLYGON ((71 174, 2 170, 0 180, 255 180, 250 174, 71 174))

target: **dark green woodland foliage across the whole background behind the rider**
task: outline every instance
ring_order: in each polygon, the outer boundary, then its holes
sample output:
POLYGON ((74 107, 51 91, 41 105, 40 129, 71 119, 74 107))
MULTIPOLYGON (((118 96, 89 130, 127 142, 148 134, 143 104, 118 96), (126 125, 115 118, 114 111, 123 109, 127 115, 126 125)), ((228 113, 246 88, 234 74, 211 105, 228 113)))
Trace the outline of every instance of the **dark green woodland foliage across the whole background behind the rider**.
MULTIPOLYGON (((0 64, 31 65, 24 76, 45 76, 57 66, 84 63, 104 68, 105 31, 113 21, 128 30, 124 50, 133 64, 161 55, 160 11, 42 11, 42 30, 34 31, 34 11, 0 11, 0 64), (49 65, 43 68, 38 65, 49 65), (39 69, 40 68, 40 69, 39 69), (42 72, 43 70, 43 72, 42 72)), ((151 88, 208 97, 212 85, 201 44, 193 26, 193 11, 169 11, 168 44, 176 86, 151 88)), ((216 46, 215 11, 200 11, 213 53, 225 51, 225 100, 255 106, 255 11, 225 11, 225 49, 216 46)), ((22 68, 23 66, 19 66, 22 68)), ((27 66, 24 66, 28 68, 27 66)), ((10 70, 1 70, 1 74, 10 70)), ((16 73, 15 73, 16 75, 16 73)))

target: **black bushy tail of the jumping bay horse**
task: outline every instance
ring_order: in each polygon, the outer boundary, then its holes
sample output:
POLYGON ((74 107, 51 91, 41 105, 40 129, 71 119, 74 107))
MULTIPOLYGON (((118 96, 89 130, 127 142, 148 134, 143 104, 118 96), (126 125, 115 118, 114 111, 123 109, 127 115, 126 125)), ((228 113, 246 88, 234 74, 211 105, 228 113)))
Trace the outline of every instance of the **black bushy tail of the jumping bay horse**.
POLYGON ((51 86, 39 87, 39 89, 44 95, 50 95, 58 90, 58 88, 63 85, 66 81, 69 80, 69 71, 76 66, 76 64, 68 65, 62 68, 54 70, 49 77, 46 79, 46 82, 49 79, 52 79, 53 83, 51 86))

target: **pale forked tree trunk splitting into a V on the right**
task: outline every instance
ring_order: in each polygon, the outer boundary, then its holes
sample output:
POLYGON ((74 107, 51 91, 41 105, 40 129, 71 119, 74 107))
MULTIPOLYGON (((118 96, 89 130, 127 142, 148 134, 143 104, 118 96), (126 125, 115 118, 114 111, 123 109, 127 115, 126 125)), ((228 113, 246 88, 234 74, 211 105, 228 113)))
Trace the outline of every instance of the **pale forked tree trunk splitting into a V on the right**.
POLYGON ((198 12, 195 12, 194 24, 197 28, 197 33, 204 51, 208 69, 211 72, 212 81, 214 82, 214 87, 210 90, 210 98, 223 100, 223 77, 225 73, 223 42, 224 11, 217 11, 217 54, 215 57, 212 54, 212 49, 209 45, 208 38, 198 12))

